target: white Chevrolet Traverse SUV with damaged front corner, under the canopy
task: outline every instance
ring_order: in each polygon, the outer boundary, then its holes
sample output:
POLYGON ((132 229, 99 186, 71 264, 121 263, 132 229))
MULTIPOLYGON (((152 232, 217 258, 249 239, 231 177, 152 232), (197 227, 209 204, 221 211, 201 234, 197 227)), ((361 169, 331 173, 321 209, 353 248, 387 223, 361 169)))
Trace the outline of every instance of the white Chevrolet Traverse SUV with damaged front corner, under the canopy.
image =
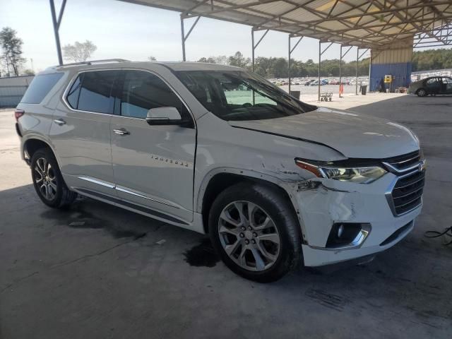
POLYGON ((236 67, 52 67, 16 119, 45 204, 82 194, 208 233, 229 268, 260 282, 301 260, 368 260, 422 206, 425 162, 409 129, 307 105, 236 67))

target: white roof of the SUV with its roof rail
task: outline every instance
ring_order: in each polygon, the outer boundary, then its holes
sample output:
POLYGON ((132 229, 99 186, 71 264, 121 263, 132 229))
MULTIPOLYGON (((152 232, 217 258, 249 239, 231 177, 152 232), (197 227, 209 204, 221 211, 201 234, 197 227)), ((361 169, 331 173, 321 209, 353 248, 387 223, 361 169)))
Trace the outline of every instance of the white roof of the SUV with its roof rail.
POLYGON ((220 64, 209 64, 206 62, 192 61, 127 61, 122 59, 108 59, 98 61, 86 61, 75 64, 64 64, 61 66, 51 66, 42 73, 66 70, 89 70, 89 69, 118 69, 118 68, 143 68, 154 69, 155 66, 164 66, 172 71, 244 71, 235 66, 220 64))

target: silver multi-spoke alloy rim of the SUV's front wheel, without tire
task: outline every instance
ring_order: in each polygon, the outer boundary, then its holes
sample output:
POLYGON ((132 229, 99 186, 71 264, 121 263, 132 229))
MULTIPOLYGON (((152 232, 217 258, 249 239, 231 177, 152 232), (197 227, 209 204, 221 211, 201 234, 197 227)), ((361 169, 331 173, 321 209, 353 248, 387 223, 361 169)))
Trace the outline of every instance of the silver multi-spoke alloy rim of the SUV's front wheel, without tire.
POLYGON ((267 270, 278 259, 278 229, 268 213, 255 203, 233 201, 223 208, 218 234, 225 253, 241 268, 267 270))

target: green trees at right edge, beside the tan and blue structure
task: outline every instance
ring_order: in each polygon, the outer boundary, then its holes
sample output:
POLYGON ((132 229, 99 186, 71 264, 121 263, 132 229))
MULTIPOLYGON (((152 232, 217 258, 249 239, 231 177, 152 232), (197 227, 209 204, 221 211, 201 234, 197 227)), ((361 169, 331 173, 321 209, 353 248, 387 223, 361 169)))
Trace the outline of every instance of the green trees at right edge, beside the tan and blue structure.
POLYGON ((452 49, 427 49, 412 54, 412 71, 452 69, 452 49))

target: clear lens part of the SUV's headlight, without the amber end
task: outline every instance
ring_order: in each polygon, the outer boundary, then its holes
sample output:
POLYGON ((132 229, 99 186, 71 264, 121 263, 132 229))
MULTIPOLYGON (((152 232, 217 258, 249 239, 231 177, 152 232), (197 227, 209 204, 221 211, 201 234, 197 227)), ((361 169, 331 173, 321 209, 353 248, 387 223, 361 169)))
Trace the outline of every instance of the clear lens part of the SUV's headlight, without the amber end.
POLYGON ((328 179, 340 180, 341 182, 355 182, 356 184, 369 184, 383 177, 387 172, 378 166, 374 167, 320 167, 320 171, 328 179))

